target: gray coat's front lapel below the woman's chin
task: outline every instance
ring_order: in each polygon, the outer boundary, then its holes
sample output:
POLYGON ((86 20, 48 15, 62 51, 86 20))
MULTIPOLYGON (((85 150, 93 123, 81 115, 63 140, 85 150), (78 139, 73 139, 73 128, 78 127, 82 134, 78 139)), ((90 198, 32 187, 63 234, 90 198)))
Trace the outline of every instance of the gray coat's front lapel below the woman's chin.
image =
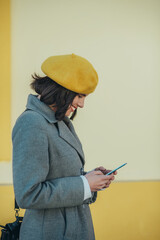
POLYGON ((80 155, 81 161, 84 165, 84 153, 81 143, 74 131, 73 126, 70 128, 63 121, 58 122, 59 136, 63 138, 68 144, 70 144, 80 155))

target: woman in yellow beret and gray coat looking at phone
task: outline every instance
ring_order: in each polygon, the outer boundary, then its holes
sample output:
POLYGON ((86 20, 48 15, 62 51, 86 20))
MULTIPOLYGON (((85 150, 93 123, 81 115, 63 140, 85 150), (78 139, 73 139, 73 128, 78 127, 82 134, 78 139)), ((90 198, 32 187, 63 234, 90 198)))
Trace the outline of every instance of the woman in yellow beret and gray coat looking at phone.
POLYGON ((68 118, 84 106, 98 76, 84 58, 52 56, 33 76, 26 110, 13 129, 13 183, 25 208, 21 240, 95 239, 89 203, 114 179, 103 167, 85 173, 81 143, 68 118))

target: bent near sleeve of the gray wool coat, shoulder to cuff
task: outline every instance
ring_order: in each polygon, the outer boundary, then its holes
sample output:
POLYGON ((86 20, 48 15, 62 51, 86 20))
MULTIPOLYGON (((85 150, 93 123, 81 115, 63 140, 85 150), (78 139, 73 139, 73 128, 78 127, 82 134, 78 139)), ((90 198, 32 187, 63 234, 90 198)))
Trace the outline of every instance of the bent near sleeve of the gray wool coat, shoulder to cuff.
POLYGON ((13 141, 13 184, 17 203, 25 209, 73 207, 83 204, 80 176, 46 181, 48 138, 44 130, 16 126, 13 141))

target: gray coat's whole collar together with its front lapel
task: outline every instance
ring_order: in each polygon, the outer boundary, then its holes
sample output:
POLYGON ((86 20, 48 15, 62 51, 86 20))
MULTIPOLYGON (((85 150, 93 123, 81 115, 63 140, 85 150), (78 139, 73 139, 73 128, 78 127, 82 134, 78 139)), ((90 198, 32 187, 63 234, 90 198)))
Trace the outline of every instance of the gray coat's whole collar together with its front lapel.
POLYGON ((84 164, 84 153, 79 138, 74 130, 74 127, 68 117, 64 121, 58 121, 55 118, 55 112, 50 109, 45 103, 41 102, 37 95, 30 94, 26 108, 41 114, 50 123, 57 123, 59 136, 70 144, 80 155, 81 161, 84 164))

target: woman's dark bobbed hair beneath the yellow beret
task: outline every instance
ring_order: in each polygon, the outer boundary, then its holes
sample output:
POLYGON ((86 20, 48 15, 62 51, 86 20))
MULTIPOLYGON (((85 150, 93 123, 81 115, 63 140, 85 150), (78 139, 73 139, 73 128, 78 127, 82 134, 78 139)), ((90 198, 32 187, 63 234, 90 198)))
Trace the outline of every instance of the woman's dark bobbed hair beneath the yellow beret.
MULTIPOLYGON (((41 95, 40 101, 47 105, 53 105, 56 107, 55 117, 61 121, 65 117, 65 113, 72 104, 73 99, 78 93, 68 90, 58 83, 50 79, 48 76, 40 77, 36 73, 32 75, 33 81, 30 84, 31 88, 41 95)), ((76 115, 76 110, 71 116, 71 120, 76 115)))

